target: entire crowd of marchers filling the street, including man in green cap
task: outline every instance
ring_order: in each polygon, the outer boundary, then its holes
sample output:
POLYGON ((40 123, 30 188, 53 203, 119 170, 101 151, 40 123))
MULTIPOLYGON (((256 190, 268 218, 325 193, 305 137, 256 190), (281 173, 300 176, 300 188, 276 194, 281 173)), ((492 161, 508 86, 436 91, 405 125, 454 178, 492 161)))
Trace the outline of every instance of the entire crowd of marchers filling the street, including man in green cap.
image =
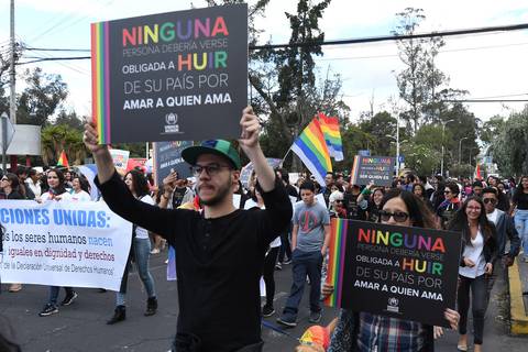
MULTIPOLYGON (((145 287, 145 316, 157 310, 150 255, 160 253, 165 243, 176 251, 179 317, 173 351, 262 351, 261 319, 276 315, 278 323, 295 327, 307 279, 309 321, 319 323, 321 296, 333 292, 324 284, 332 217, 461 232, 457 310, 447 309, 443 318, 459 331, 458 349, 466 351, 471 306, 474 350, 482 350, 493 275, 504 275, 521 242, 528 262, 528 176, 516 185, 514 179, 496 177, 471 182, 408 173, 395 177, 391 186, 380 187, 353 185, 343 174, 328 173, 324 185, 298 174, 290 183, 294 174, 284 168, 273 170, 266 164, 251 109, 244 110, 241 125, 241 148, 255 166, 248 185, 240 182, 237 150, 227 141, 213 140, 184 151, 193 178, 172 172, 158 188, 141 170, 116 173, 108 148, 97 144, 91 125, 86 128, 85 143, 98 166, 96 184, 102 199, 133 223, 129 265, 135 262, 145 287), (240 195, 237 205, 233 194, 240 195), (289 265, 292 289, 277 314, 274 271, 289 265), (262 307, 261 276, 266 286, 262 307), (233 287, 241 297, 237 301, 230 295, 233 287)), ((3 199, 90 200, 88 180, 70 169, 41 174, 19 167, 14 174, 2 175, 0 188, 3 199)), ((125 319, 129 265, 109 324, 125 319)), ((20 284, 9 288, 12 293, 20 289, 20 284)), ((76 300, 78 294, 72 287, 64 289, 66 295, 58 305, 61 288, 50 287, 40 316, 57 314, 59 306, 76 300)), ((435 339, 442 334, 438 327, 345 309, 329 328, 318 331, 327 334, 319 350, 314 343, 298 350, 432 351, 435 339)))

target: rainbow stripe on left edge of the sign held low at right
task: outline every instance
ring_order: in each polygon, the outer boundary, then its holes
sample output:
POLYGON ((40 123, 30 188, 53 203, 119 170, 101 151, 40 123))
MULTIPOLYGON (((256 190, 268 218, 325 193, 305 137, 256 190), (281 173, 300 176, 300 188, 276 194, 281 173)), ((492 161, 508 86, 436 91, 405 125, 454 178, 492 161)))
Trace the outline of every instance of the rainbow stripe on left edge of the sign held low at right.
POLYGON ((348 229, 349 221, 346 219, 332 218, 330 224, 330 244, 328 246, 327 284, 333 286, 333 294, 324 299, 324 304, 329 307, 341 307, 348 229))

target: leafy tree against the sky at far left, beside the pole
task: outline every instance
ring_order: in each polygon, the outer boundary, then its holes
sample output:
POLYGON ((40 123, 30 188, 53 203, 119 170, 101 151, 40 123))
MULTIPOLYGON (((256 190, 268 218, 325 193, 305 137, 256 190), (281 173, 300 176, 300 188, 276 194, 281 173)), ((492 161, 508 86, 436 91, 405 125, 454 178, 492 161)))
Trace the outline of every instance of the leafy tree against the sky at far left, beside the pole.
POLYGON ((59 75, 44 74, 42 68, 24 73, 28 87, 19 97, 16 123, 44 125, 68 95, 59 75))

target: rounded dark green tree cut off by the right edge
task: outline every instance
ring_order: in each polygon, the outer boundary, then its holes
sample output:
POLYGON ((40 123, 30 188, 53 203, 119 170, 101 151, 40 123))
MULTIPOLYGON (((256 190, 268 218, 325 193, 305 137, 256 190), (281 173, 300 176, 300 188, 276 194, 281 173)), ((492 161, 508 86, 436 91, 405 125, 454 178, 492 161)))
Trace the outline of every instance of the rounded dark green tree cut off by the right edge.
POLYGON ((513 113, 494 135, 488 153, 497 163, 501 174, 528 175, 528 106, 513 113))

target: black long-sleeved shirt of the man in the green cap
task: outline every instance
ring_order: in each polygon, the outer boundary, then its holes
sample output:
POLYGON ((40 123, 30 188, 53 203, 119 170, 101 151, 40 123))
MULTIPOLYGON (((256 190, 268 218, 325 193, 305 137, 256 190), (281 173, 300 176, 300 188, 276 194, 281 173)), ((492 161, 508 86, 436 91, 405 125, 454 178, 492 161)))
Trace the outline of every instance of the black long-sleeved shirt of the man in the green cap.
POLYGON ((100 185, 120 217, 165 238, 176 250, 178 333, 201 340, 201 351, 237 351, 261 341, 260 277, 270 243, 292 219, 280 183, 263 193, 265 210, 201 212, 161 209, 136 200, 117 173, 100 185))

